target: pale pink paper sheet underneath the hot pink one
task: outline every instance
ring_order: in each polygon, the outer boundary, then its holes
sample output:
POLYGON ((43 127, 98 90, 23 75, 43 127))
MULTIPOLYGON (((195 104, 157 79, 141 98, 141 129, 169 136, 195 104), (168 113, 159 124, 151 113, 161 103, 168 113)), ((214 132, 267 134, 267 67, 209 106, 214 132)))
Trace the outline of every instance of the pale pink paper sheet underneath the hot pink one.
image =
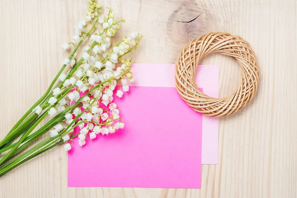
MULTIPOLYGON (((133 64, 136 82, 131 86, 175 87, 174 64, 133 64)), ((198 65, 196 84, 208 96, 219 97, 219 66, 198 65)), ((202 118, 202 164, 218 163, 219 119, 202 118)))

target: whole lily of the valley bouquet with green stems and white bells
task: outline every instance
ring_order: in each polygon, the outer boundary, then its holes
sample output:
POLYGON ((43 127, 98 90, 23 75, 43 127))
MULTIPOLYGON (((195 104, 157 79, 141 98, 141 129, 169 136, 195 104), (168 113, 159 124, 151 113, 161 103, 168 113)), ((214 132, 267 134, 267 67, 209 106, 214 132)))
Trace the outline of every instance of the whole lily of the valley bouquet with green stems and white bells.
POLYGON ((124 127, 112 101, 122 98, 129 91, 128 81, 134 81, 131 59, 123 56, 137 47, 142 36, 132 33, 112 44, 111 38, 124 20, 116 20, 114 11, 107 9, 108 14, 101 16, 100 4, 89 2, 86 19, 75 25, 72 42, 62 45, 72 52, 63 60, 49 89, 0 142, 0 177, 57 145, 63 144, 68 151, 72 144, 82 147, 87 138, 124 127), (78 49, 87 40, 90 45, 79 56, 78 49), (47 116, 50 120, 36 129, 47 116), (74 133, 75 127, 80 128, 79 133, 74 133), (34 145, 44 134, 47 138, 34 145))

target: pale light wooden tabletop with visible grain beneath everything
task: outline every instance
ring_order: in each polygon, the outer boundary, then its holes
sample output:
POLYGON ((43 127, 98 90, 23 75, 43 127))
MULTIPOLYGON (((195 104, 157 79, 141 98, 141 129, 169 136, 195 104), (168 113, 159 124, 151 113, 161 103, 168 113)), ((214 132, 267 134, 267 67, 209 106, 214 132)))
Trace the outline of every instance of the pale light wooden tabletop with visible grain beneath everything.
MULTIPOLYGON (((191 39, 211 31, 242 36, 259 63, 257 96, 220 119, 219 164, 202 166, 201 189, 67 188, 67 154, 59 147, 0 178, 0 198, 297 197, 296 0, 101 3, 126 19, 121 36, 144 35, 133 54, 137 63, 174 63, 191 39)), ((0 0, 0 139, 49 86, 66 56, 60 45, 87 6, 88 0, 0 0)), ((220 97, 235 90, 235 60, 213 54, 202 63, 220 66, 220 97)))

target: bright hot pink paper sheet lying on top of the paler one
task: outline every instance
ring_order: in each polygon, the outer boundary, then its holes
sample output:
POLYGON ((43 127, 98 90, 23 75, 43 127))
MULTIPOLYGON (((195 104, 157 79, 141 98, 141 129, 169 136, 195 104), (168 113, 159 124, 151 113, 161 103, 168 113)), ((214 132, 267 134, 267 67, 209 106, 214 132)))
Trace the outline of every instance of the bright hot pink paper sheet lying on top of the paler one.
POLYGON ((125 128, 75 140, 68 187, 200 188, 202 116, 172 87, 130 87, 115 97, 125 128))

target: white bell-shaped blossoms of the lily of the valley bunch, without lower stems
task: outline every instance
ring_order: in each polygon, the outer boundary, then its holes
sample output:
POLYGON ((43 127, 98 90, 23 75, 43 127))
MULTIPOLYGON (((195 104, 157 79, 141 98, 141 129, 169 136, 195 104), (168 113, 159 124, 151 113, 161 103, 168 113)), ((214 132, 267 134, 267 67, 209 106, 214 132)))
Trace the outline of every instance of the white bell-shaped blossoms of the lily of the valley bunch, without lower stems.
MULTIPOLYGON (((101 8, 96 0, 91 0, 89 4, 86 20, 75 25, 71 44, 75 46, 77 41, 88 36, 91 44, 85 47, 80 59, 73 53, 63 60, 63 65, 70 66, 70 69, 58 77, 60 84, 52 90, 47 104, 51 117, 65 118, 50 130, 50 137, 60 136, 60 140, 66 142, 78 136, 81 147, 86 144, 87 138, 92 140, 98 134, 108 135, 124 128, 113 98, 122 98, 123 93, 129 91, 128 81, 134 82, 130 71, 131 59, 123 59, 122 56, 135 49, 142 38, 139 33, 132 33, 112 45, 111 38, 120 29, 119 22, 124 20, 116 21, 112 9, 106 17, 101 17, 101 8), (88 32, 88 24, 93 23, 97 23, 100 30, 90 35, 85 33, 88 32), (74 134, 74 127, 80 128, 79 134, 74 134)), ((70 46, 63 44, 62 48, 69 49, 70 46)), ((43 108, 36 106, 33 111, 40 114, 43 108)), ((70 150, 71 144, 65 144, 64 148, 70 150)))

